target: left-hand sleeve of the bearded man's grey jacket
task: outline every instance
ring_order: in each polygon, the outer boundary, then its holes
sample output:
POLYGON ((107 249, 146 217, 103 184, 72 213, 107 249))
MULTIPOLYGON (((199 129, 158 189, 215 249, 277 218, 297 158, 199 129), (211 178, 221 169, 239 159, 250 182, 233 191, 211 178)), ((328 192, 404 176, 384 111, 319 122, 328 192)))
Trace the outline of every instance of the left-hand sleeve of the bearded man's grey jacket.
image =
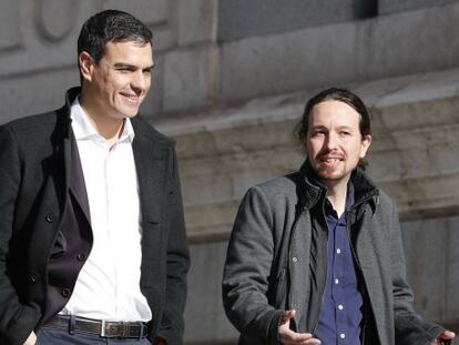
POLYGON ((279 344, 277 327, 284 311, 275 310, 267 298, 273 223, 265 193, 252 187, 234 223, 222 285, 226 315, 249 344, 279 344))

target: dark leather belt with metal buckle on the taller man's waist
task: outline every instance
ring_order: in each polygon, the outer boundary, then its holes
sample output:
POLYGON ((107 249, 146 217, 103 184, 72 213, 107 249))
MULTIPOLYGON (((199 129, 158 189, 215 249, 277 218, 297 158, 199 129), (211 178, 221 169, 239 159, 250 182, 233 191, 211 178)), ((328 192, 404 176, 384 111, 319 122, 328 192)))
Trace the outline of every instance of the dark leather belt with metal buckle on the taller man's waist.
POLYGON ((113 322, 67 315, 52 317, 43 327, 68 332, 81 331, 108 338, 142 338, 149 334, 143 322, 113 322))

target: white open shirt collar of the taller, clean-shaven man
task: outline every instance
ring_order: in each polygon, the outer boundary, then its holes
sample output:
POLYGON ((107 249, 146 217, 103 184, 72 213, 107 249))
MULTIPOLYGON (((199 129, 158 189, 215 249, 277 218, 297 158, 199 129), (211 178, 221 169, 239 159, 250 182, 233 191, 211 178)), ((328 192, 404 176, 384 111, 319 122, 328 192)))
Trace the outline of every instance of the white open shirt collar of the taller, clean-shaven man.
MULTIPOLYGON (((72 119, 72 130, 76 140, 83 139, 103 139, 98 133, 84 109, 80 104, 80 97, 76 97, 70 108, 70 118, 72 119)), ((131 143, 134 140, 134 129, 131 123, 131 119, 124 119, 123 133, 121 133, 120 142, 129 140, 131 143)), ((104 140, 104 139, 103 139, 104 140)))

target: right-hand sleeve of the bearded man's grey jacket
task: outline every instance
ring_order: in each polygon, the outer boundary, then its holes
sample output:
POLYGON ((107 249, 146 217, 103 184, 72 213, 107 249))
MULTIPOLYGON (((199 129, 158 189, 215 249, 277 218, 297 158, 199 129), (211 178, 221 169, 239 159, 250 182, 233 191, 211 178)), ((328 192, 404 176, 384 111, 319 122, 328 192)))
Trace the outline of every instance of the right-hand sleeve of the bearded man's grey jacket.
POLYGON ((415 312, 412 307, 414 295, 406 277, 400 222, 394 206, 391 226, 391 264, 396 344, 429 345, 445 329, 437 324, 425 321, 415 312))

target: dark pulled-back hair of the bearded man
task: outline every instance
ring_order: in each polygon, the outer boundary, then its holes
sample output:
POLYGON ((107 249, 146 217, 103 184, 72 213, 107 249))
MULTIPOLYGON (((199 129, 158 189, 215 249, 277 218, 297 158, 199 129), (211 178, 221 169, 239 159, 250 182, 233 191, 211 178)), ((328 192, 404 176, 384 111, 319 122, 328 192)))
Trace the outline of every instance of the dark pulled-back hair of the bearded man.
MULTIPOLYGON (((320 91, 312 99, 309 99, 309 101, 307 101, 306 103, 302 120, 295 128, 295 134, 303 146, 306 145, 306 136, 309 128, 309 116, 313 111, 313 108, 318 103, 325 101, 339 101, 353 108, 360 115, 359 130, 361 139, 365 139, 367 135, 371 135, 370 114, 364 101, 357 94, 347 89, 330 88, 320 91)), ((365 160, 360 160, 359 162, 359 165, 361 168, 365 168, 367 164, 368 163, 365 160)))

